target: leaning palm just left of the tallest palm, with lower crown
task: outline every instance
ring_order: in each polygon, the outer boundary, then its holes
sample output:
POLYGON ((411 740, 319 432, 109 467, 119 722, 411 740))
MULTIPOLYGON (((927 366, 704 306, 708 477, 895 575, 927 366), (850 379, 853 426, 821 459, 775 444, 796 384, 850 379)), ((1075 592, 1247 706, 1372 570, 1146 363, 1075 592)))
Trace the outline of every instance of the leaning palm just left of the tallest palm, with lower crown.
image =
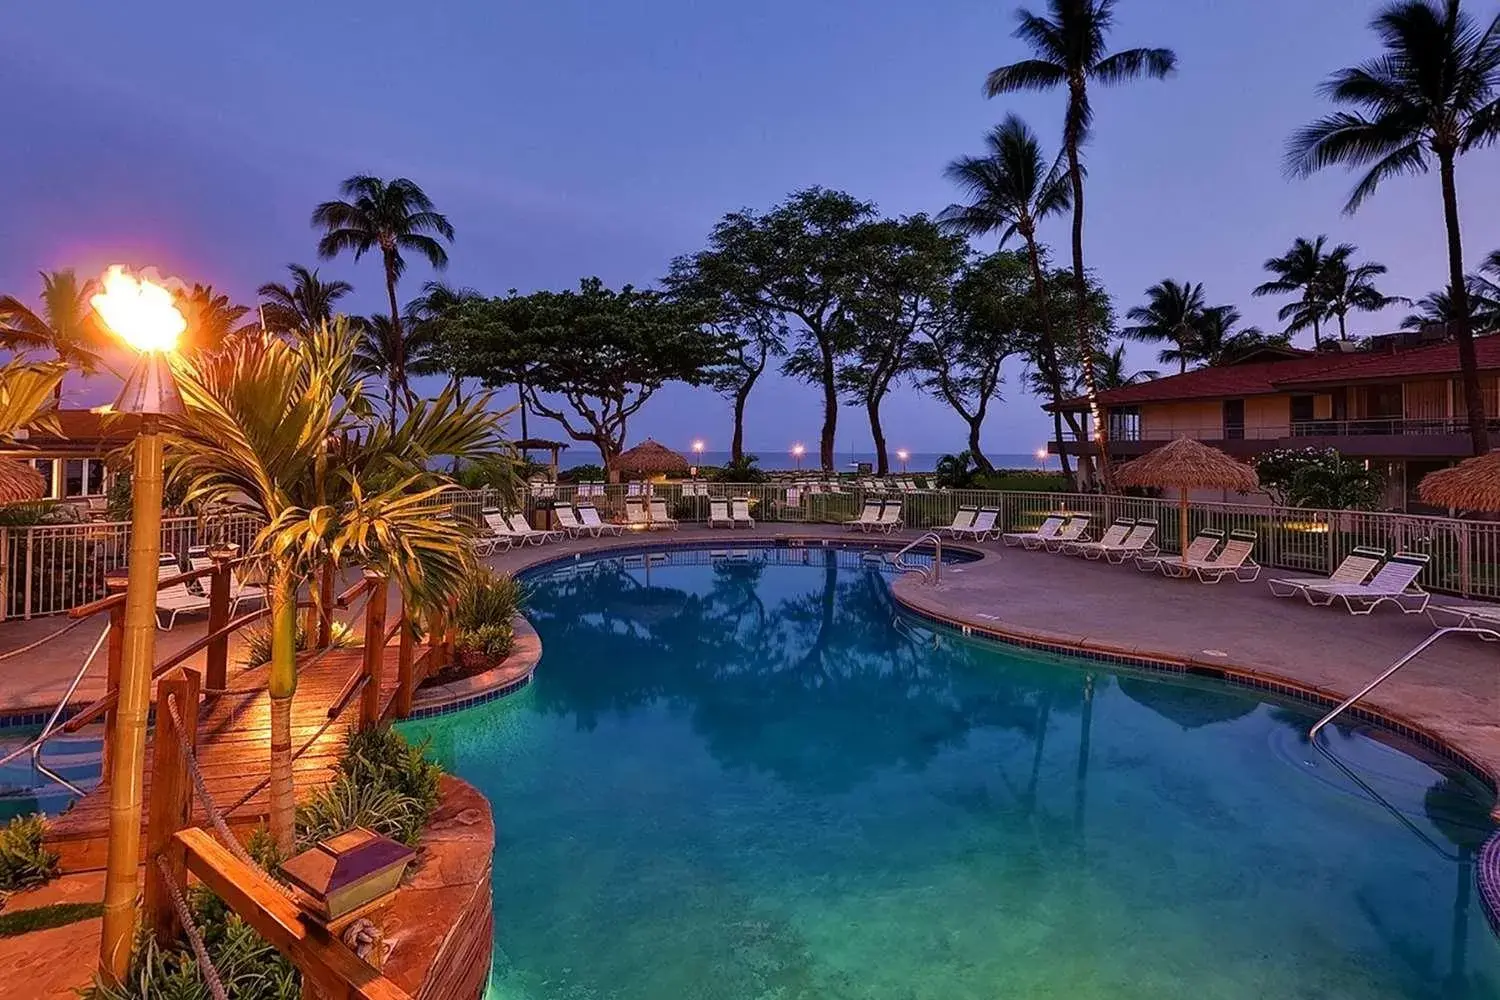
POLYGON ((1020 117, 1011 114, 986 136, 984 156, 960 156, 944 171, 969 198, 966 205, 948 205, 938 220, 966 235, 999 234, 999 247, 1012 235, 1026 241, 1030 258, 1032 291, 1041 318, 1038 370, 1053 402, 1052 426, 1058 439, 1062 474, 1072 478, 1068 453, 1062 448, 1062 367, 1047 309, 1047 282, 1042 277, 1036 223, 1068 210, 1071 195, 1059 163, 1047 166, 1041 144, 1020 117))

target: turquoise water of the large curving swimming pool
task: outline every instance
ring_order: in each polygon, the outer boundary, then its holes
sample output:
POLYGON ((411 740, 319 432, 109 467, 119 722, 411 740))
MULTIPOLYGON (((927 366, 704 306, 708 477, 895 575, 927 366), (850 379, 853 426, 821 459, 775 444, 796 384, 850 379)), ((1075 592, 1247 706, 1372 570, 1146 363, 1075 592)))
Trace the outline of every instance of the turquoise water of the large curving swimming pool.
POLYGON ((750 555, 536 576, 531 687, 405 726, 494 804, 490 997, 1500 997, 1470 780, 750 555))

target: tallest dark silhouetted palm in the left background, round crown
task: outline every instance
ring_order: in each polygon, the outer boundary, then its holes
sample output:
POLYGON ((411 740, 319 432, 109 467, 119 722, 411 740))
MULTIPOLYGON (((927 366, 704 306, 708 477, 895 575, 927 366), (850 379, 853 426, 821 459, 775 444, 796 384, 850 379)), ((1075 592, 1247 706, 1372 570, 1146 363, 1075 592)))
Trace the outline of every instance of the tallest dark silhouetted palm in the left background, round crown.
MULTIPOLYGON (((332 259, 348 250, 357 261, 380 250, 386 267, 386 294, 390 298, 390 342, 402 348, 405 331, 396 301, 396 282, 406 270, 402 253, 416 253, 426 258, 435 270, 444 270, 448 252, 438 237, 452 243, 453 226, 434 210, 426 192, 405 177, 386 181, 360 174, 345 180, 339 192, 344 201, 326 201, 312 211, 312 225, 324 231, 318 240, 318 256, 332 259)), ((406 384, 406 354, 405 349, 396 349, 390 357, 396 366, 394 378, 402 385, 406 384)))

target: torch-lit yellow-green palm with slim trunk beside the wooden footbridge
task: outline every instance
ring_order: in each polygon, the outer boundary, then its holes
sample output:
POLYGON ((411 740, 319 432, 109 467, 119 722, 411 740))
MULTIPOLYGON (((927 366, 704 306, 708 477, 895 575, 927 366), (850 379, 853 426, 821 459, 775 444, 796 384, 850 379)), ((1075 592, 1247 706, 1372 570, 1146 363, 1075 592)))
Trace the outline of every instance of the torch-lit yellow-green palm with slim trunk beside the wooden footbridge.
POLYGON ((462 406, 444 393, 416 403, 396 429, 370 421, 344 322, 297 342, 255 337, 237 351, 184 355, 177 369, 186 414, 165 421, 170 475, 189 501, 264 523, 248 555, 267 571, 270 819, 285 852, 296 807, 297 592, 326 564, 362 564, 387 574, 404 606, 444 606, 470 556, 462 528, 430 504, 447 481, 428 469, 436 456, 496 450, 498 417, 486 412, 488 399, 462 406))

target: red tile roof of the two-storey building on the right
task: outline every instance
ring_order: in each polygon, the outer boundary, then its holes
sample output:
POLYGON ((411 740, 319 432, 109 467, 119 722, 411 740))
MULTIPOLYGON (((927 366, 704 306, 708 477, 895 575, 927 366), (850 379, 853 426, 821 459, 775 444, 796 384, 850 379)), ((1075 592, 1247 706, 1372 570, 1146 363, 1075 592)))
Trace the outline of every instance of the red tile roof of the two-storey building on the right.
MULTIPOLYGON (((1480 370, 1500 370, 1500 336, 1474 340, 1480 370)), ((1458 346, 1436 343, 1428 348, 1389 352, 1312 354, 1276 361, 1250 361, 1197 369, 1185 375, 1138 382, 1100 393, 1104 406, 1185 402, 1192 399, 1239 399, 1269 396, 1294 388, 1344 385, 1348 382, 1410 379, 1458 373, 1458 346)), ((1084 409, 1086 399, 1071 399, 1066 409, 1084 409)))

